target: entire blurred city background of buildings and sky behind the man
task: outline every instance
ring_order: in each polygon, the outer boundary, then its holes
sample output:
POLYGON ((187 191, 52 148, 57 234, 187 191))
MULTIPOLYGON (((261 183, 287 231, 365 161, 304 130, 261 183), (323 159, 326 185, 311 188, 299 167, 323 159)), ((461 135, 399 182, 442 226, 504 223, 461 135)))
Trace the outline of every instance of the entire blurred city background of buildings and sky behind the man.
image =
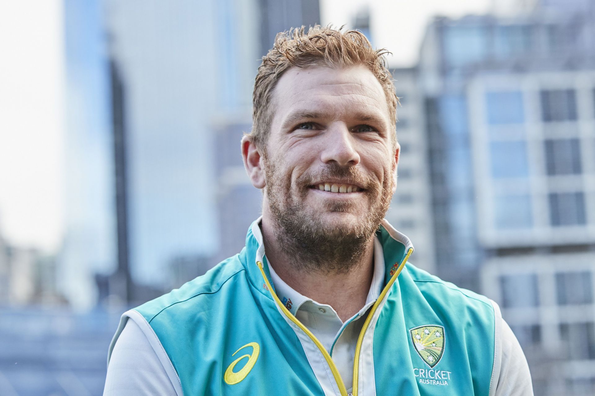
POLYGON ((390 222, 493 298, 538 395, 595 395, 595 2, 0 5, 0 395, 101 395, 118 319, 243 247, 240 158, 275 33, 386 47, 390 222))

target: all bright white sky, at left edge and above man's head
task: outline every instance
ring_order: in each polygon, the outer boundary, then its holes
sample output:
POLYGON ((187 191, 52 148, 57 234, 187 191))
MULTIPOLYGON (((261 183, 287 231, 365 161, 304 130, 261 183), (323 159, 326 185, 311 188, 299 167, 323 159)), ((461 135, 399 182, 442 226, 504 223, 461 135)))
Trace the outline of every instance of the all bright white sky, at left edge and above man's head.
MULTIPOLYGON (((510 1, 510 0, 503 0, 510 1)), ((411 66, 432 15, 485 13, 490 0, 321 0, 322 23, 348 26, 364 4, 374 45, 411 66)), ((55 252, 62 238, 64 15, 61 0, 0 2, 0 234, 55 252)))

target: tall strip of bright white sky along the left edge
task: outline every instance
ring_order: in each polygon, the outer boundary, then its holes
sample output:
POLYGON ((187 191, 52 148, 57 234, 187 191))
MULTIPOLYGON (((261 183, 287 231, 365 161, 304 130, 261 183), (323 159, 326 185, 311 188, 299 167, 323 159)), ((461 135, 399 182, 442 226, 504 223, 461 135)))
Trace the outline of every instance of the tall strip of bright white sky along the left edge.
POLYGON ((62 237, 60 0, 0 2, 0 233, 54 251, 62 237))

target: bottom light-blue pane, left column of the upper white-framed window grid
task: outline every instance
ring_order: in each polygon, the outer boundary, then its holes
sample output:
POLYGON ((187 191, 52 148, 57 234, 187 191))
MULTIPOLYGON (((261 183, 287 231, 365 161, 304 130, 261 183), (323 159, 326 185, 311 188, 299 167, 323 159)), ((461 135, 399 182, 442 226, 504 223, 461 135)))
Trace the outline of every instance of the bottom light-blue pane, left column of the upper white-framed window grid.
POLYGON ((528 195, 500 196, 494 199, 494 222, 499 229, 531 228, 531 197, 528 195))

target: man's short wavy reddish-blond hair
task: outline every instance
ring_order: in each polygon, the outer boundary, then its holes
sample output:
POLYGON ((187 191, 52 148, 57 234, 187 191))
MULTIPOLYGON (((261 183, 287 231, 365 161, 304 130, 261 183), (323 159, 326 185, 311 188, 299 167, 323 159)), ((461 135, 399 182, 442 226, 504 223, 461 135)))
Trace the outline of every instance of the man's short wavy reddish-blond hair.
POLYGON ((373 49, 371 43, 359 30, 343 31, 343 27, 305 26, 278 33, 273 48, 262 56, 258 67, 252 95, 252 131, 248 136, 257 147, 266 152, 266 142, 273 121, 271 99, 275 86, 283 73, 291 67, 316 66, 348 68, 365 65, 374 73, 386 95, 389 105, 393 145, 396 144, 397 103, 393 77, 387 68, 386 49, 373 49))

